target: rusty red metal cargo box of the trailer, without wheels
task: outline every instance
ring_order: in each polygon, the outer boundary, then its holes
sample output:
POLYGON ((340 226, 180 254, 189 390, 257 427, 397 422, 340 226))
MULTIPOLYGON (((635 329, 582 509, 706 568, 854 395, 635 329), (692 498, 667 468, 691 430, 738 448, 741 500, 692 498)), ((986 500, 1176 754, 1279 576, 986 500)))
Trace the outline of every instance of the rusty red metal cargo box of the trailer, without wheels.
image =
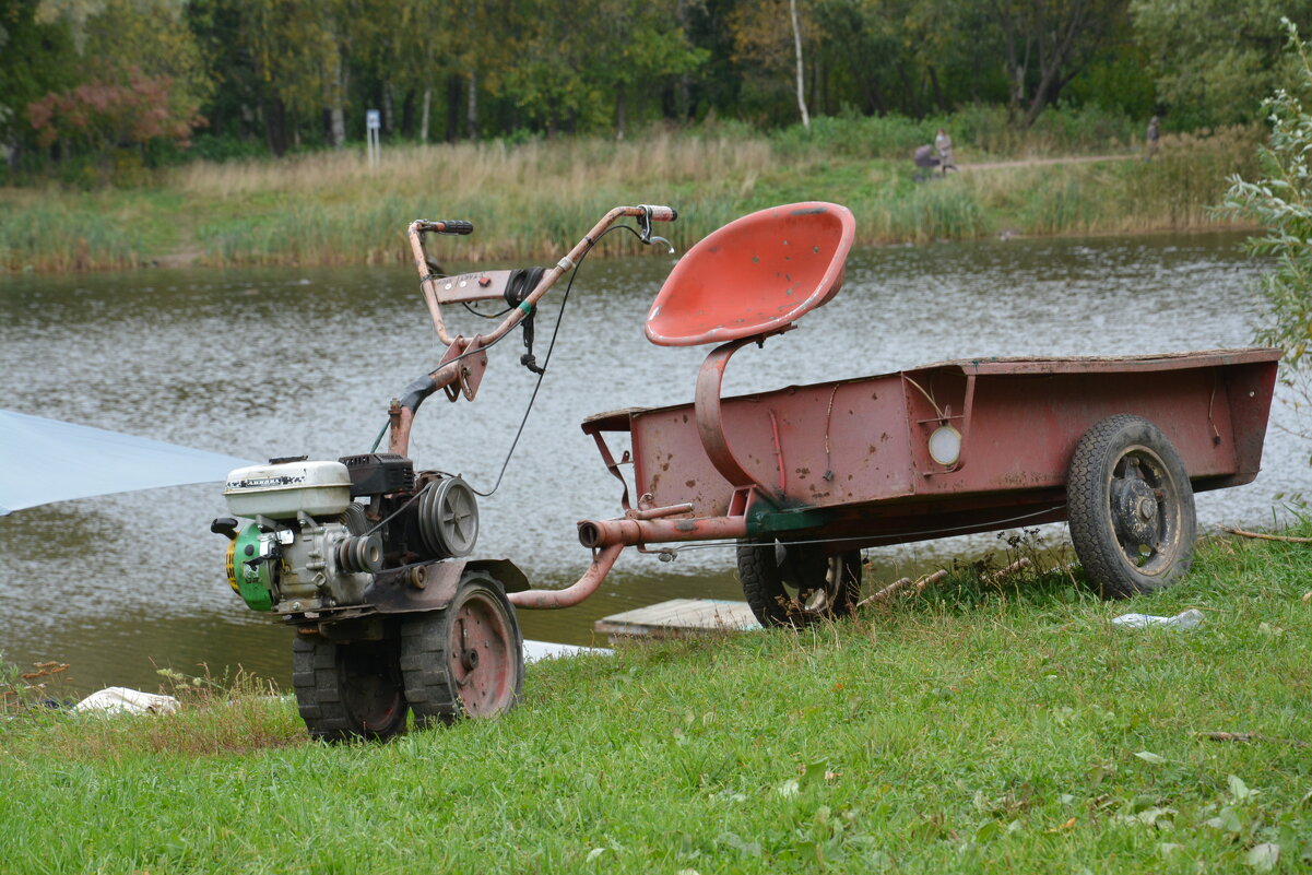
MULTIPOLYGON (((935 513, 960 504, 988 522, 1002 518, 1000 512, 1025 501, 1026 493, 1060 502, 1076 442, 1117 413, 1156 424, 1195 489, 1252 480, 1278 356, 1252 349, 946 362, 724 399, 720 416, 744 472, 783 506, 933 499, 947 500, 935 513), (962 457, 953 467, 929 455, 929 434, 943 422, 963 434, 962 457)), ((694 405, 627 416, 638 492, 649 493, 655 505, 690 502, 697 517, 728 512, 737 484, 705 451, 694 405)))

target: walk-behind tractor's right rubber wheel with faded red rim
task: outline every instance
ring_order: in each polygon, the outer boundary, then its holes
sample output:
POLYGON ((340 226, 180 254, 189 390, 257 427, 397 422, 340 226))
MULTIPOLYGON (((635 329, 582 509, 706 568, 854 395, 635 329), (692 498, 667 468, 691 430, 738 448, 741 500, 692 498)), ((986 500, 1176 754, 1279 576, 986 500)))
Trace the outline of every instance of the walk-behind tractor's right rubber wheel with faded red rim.
POLYGON ((407 619, 400 664, 420 727, 513 708, 523 689, 523 636, 501 584, 467 572, 446 609, 407 619))

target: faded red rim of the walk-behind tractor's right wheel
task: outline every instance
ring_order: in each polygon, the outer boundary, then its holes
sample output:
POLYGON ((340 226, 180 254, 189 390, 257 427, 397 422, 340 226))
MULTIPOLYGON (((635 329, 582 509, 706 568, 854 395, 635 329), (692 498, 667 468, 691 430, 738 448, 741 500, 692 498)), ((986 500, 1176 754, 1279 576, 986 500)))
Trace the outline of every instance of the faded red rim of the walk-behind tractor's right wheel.
POLYGON ((492 716, 514 702, 518 647, 501 602, 470 593, 451 618, 447 666, 464 714, 492 716))

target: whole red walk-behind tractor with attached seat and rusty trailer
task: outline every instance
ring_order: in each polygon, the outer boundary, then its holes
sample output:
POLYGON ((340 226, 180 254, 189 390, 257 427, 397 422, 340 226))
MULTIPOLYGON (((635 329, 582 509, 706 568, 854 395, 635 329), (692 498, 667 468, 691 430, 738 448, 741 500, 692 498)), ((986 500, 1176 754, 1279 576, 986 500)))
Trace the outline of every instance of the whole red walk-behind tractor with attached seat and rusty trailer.
MULTIPOLYGON (((548 270, 458 277, 436 270, 424 236, 471 226, 412 223, 424 298, 447 350, 392 403, 390 454, 341 460, 349 505, 307 489, 297 462, 270 463, 235 489, 230 483, 241 508, 276 506, 287 518, 256 516, 240 535, 235 521, 216 521, 215 530, 232 538, 234 588, 302 634, 297 693, 312 732, 388 735, 407 708, 421 720, 504 711, 522 678, 512 606, 583 601, 626 547, 736 542, 743 590, 761 623, 803 626, 855 603, 865 547, 1067 519, 1089 580, 1123 597, 1187 571, 1194 492, 1257 476, 1275 349, 950 361, 723 397, 737 350, 792 342, 774 338, 842 285, 851 213, 792 203, 724 226, 678 261, 646 331, 660 345, 715 345, 694 400, 584 421, 623 484, 623 514, 579 523, 592 561, 576 584, 530 589, 508 560, 468 559, 474 492, 459 478, 413 471, 411 425, 437 390, 474 400, 487 350, 625 216, 651 241, 660 240, 652 222, 676 213, 615 207, 548 270), (451 335, 442 306, 476 300, 504 300, 509 315, 487 336, 451 335), (617 458, 611 445, 626 437, 617 458), (248 495, 266 489, 295 496, 269 505, 248 495), (303 506, 311 500, 314 513, 303 506), (341 522, 323 522, 329 516, 341 522), (295 554, 294 530, 319 533, 306 558, 295 554), (241 551, 257 555, 243 561, 241 551)), ((521 362, 537 367, 531 353, 521 362)))

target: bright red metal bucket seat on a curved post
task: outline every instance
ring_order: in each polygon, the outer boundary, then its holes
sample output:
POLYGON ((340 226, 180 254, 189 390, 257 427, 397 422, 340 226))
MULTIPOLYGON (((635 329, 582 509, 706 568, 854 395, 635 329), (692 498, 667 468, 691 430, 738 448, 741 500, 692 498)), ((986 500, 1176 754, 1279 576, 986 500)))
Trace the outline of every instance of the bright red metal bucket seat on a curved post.
POLYGON ((842 286, 857 223, 811 201, 752 213, 711 232, 670 272, 647 314, 647 340, 694 346, 775 332, 842 286))

